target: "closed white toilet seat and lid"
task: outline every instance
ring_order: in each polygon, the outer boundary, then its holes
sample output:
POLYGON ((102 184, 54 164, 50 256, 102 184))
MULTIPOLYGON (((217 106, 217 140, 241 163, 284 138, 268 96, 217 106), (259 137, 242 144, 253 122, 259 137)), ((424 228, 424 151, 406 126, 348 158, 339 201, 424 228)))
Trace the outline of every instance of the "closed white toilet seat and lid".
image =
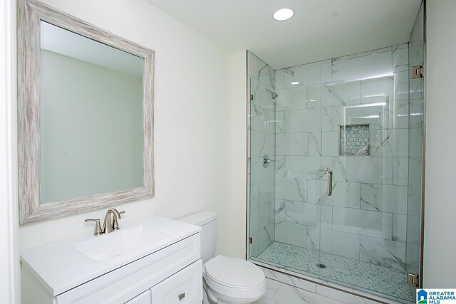
POLYGON ((248 300, 259 298, 266 292, 263 271, 249 261, 216 256, 204 266, 207 285, 220 295, 248 300))

